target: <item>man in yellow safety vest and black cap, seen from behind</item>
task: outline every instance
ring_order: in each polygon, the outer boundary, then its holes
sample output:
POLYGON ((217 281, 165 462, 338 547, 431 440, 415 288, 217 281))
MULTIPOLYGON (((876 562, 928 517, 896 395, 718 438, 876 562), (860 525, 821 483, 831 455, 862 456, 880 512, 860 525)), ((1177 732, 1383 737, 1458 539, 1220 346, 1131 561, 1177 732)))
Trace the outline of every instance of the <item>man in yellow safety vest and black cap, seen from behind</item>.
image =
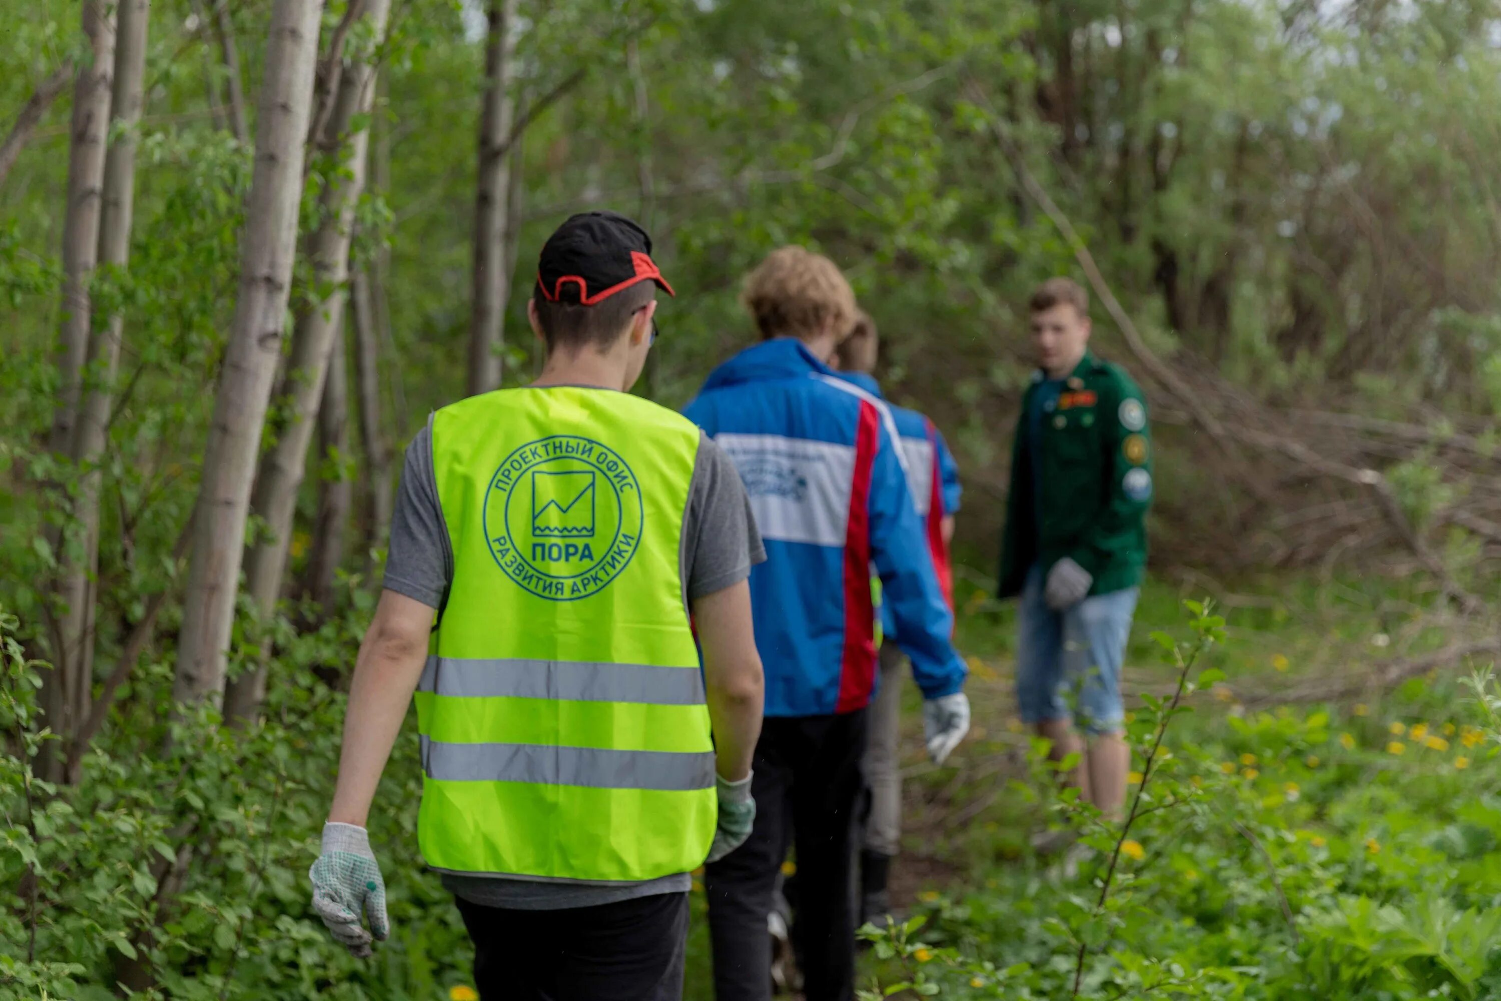
POLYGON ((407 450, 354 666, 314 909, 356 954, 389 933, 365 821, 416 695, 417 839, 486 1001, 678 998, 687 873, 755 816, 766 551, 725 453, 624 392, 656 288, 629 219, 552 234, 528 303, 542 377, 444 407, 407 450))

